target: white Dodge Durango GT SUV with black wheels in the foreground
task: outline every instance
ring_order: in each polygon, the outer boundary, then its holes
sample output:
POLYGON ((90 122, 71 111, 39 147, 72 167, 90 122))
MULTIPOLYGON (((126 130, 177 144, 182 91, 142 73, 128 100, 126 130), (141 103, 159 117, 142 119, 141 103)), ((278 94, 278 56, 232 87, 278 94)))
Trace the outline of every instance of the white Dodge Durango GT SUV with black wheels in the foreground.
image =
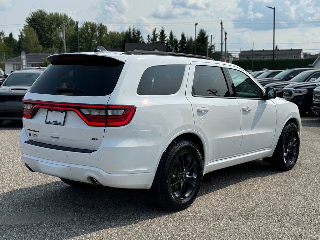
POLYGON ((73 185, 150 189, 187 208, 205 173, 263 158, 290 170, 298 108, 245 70, 168 52, 56 54, 23 100, 22 162, 73 185))

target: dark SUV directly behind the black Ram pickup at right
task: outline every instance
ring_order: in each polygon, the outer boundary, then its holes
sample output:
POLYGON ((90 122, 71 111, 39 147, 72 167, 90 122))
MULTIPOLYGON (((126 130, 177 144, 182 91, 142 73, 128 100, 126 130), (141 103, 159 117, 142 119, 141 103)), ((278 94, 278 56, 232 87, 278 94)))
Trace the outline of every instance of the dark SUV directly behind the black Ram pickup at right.
MULTIPOLYGON (((276 83, 269 83, 264 85, 264 87, 273 87, 276 89, 277 97, 283 97, 283 88, 289 84, 301 83, 301 82, 313 82, 318 77, 320 77, 320 68, 307 70, 299 73, 297 76, 292 78, 290 81, 282 81, 276 83)), ((312 85, 312 84, 311 84, 312 85)))

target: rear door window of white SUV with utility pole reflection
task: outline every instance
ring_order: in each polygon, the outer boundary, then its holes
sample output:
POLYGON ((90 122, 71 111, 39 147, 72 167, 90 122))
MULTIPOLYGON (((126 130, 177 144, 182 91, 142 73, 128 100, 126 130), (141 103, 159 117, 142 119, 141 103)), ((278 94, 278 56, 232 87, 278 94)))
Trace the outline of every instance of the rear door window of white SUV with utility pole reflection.
POLYGON ((212 66, 196 66, 192 95, 230 97, 222 69, 212 66))

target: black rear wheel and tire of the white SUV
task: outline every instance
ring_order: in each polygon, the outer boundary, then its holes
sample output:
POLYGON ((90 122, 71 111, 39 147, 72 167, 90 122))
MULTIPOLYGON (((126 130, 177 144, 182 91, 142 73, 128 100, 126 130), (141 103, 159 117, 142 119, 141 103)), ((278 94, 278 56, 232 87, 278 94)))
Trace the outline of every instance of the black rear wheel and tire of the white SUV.
POLYGON ((173 211, 189 207, 202 183, 203 161, 197 146, 176 140, 167 149, 162 165, 158 203, 173 211))

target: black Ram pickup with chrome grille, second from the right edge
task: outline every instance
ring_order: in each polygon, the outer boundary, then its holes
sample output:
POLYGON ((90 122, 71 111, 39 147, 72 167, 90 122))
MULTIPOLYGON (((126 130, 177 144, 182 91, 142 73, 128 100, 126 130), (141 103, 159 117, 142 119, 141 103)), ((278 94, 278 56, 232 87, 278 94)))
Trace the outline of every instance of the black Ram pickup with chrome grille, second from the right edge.
POLYGON ((313 82, 303 82, 289 84, 283 89, 283 98, 298 105, 300 114, 308 112, 311 116, 319 115, 319 111, 315 111, 313 106, 312 93, 314 89, 320 85, 320 78, 313 82))

